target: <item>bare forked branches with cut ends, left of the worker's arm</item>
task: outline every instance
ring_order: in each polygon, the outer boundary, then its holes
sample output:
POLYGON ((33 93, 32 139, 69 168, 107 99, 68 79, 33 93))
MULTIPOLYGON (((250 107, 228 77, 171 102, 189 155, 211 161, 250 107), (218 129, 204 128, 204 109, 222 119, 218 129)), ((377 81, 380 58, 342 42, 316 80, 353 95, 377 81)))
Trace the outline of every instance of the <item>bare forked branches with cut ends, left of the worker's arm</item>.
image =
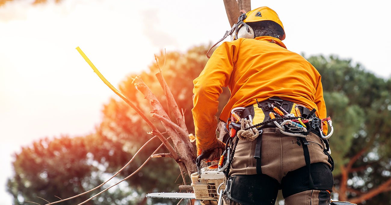
MULTIPOLYGON (((156 135, 161 142, 166 146, 166 148, 169 150, 170 153, 167 153, 165 156, 169 156, 172 159, 174 159, 178 165, 181 171, 187 173, 188 175, 191 175, 196 171, 195 166, 195 151, 194 146, 190 143, 190 140, 188 138, 188 131, 187 127, 185 125, 185 120, 183 118, 183 115, 181 114, 181 111, 179 110, 178 104, 176 103, 174 96, 172 95, 162 73, 160 66, 158 64, 158 61, 156 59, 156 64, 159 68, 158 73, 156 73, 156 77, 158 81, 160 82, 161 87, 165 91, 166 99, 168 100, 168 104, 170 107, 170 110, 172 110, 172 113, 175 116, 175 119, 178 124, 172 122, 170 120, 169 115, 165 112, 163 109, 163 106, 159 102, 159 100, 156 98, 156 96, 152 93, 151 89, 142 81, 140 77, 136 77, 133 80, 133 84, 136 86, 138 91, 143 93, 144 97, 149 100, 149 103, 152 106, 152 116, 154 118, 157 118, 161 121, 163 124, 163 127, 166 130, 166 133, 169 134, 170 138, 172 139, 174 143, 174 147, 167 141, 167 139, 161 134, 161 132, 158 130, 158 128, 147 118, 147 116, 134 104, 132 103, 124 94, 120 93, 113 85, 111 85, 106 78, 103 77, 103 75, 99 72, 99 70, 92 64, 90 59, 83 53, 83 51, 77 47, 76 50, 83 56, 84 60, 91 66, 93 71, 99 76, 99 78, 115 93, 117 94, 122 100, 124 100, 130 107, 132 107, 138 115, 147 123, 149 127, 151 127, 152 131, 149 132, 149 134, 156 135)), ((155 156, 156 157, 156 156, 155 156)))

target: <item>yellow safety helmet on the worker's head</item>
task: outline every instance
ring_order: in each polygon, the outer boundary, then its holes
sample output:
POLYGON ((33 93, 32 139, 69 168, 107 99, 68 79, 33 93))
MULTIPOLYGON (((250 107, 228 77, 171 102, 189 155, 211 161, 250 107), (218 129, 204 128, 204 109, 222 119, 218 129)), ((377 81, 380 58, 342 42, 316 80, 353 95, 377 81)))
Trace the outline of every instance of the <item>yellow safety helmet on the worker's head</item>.
POLYGON ((282 25, 282 22, 278 17, 277 13, 273 11, 273 9, 267 6, 259 7, 257 9, 247 12, 245 18, 243 19, 244 23, 259 22, 259 21, 273 21, 278 25, 280 25, 283 32, 283 36, 281 40, 285 39, 284 26, 282 25))

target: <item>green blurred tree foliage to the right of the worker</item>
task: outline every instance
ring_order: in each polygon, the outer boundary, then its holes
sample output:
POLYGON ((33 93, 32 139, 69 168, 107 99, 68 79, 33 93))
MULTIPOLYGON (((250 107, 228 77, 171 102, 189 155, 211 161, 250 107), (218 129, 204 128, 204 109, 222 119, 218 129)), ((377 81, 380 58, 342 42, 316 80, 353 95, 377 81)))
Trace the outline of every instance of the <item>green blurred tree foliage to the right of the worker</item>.
MULTIPOLYGON (((336 191, 340 199, 357 200, 390 179, 391 79, 376 77, 360 64, 335 56, 314 56, 308 61, 322 75, 327 112, 335 128, 330 144, 336 191)), ((366 203, 391 203, 389 186, 379 191, 366 203)))

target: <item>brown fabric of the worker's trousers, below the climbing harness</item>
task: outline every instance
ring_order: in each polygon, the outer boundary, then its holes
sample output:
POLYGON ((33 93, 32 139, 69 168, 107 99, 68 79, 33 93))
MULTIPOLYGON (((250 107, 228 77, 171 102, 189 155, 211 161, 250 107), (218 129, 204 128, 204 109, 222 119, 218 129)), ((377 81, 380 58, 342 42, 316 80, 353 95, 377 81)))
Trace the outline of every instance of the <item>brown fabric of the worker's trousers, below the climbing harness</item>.
MULTIPOLYGON (((310 154, 310 162, 323 162, 331 167, 328 162, 328 156, 323 152, 323 141, 315 134, 309 134, 306 137, 309 145, 308 151, 310 154)), ((298 143, 298 137, 287 136, 280 133, 276 128, 265 128, 262 133, 261 144, 261 168, 262 174, 274 178, 277 182, 282 182, 284 176, 288 172, 306 166, 303 146, 298 143)), ((256 140, 244 141, 239 140, 235 155, 232 160, 230 176, 235 175, 256 175, 256 159, 255 154, 256 140)), ((329 170, 327 170, 329 171, 329 170)), ((331 173, 330 175, 331 176, 331 173)), ((332 180, 332 176, 331 179, 332 180)), ((260 185, 262 186, 262 185, 260 185)), ((285 205, 318 205, 319 194, 324 194, 326 191, 307 190, 296 193, 285 198, 285 205)), ((256 193, 254 193, 256 194, 256 193)), ((326 193, 329 194, 329 193, 326 193)), ((328 195, 329 196, 329 195, 328 195)), ((224 204, 239 205, 228 197, 223 197, 224 204)), ((322 203, 328 204, 328 203, 322 203)))

